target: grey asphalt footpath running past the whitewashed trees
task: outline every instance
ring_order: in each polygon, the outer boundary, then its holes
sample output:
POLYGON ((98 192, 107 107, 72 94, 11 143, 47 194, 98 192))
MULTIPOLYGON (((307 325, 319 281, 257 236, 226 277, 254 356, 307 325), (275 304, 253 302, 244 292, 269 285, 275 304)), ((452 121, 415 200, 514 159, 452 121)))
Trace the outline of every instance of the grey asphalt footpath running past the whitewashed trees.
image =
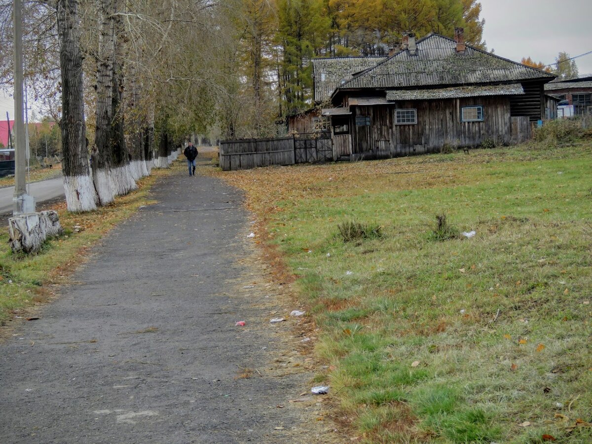
POLYGON ((295 320, 269 323, 282 287, 253 271, 242 195, 181 173, 153 194, 0 343, 0 442, 330 442, 314 437, 318 398, 311 412, 288 403, 311 374, 274 363, 286 341, 301 359, 304 345, 295 320))

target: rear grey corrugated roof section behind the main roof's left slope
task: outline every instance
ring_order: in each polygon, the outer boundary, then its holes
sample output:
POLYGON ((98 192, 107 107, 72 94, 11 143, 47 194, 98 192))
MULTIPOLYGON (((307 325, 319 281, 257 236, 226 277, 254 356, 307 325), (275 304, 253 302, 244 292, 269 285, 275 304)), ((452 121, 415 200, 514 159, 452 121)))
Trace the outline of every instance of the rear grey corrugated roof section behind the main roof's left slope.
POLYGON ((351 80, 353 75, 376 66, 386 57, 327 57, 313 59, 314 100, 330 98, 337 86, 351 80))

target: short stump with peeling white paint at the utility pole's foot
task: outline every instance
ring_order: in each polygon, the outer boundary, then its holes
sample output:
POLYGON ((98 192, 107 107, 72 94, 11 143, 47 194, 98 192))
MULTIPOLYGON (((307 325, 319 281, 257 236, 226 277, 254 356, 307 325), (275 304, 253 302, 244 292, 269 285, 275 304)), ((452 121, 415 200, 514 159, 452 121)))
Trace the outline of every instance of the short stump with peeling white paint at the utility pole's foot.
POLYGON ((15 253, 36 253, 49 237, 63 232, 55 211, 21 214, 8 219, 8 243, 15 253))

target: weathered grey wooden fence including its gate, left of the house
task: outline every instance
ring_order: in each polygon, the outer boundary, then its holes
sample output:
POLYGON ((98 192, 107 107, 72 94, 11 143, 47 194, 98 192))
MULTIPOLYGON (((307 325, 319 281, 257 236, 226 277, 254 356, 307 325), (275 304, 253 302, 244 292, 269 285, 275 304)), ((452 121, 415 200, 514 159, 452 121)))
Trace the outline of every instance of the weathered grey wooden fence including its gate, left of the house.
POLYGON ((220 168, 223 171, 332 160, 333 146, 329 133, 220 141, 220 168))

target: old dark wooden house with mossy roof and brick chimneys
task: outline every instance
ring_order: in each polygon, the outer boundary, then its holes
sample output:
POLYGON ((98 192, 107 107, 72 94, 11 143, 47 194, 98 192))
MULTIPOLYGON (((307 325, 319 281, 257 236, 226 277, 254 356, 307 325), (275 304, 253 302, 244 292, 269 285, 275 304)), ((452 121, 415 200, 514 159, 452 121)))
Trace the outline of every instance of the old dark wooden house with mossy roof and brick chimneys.
POLYGON ((404 34, 391 56, 355 59, 313 61, 315 100, 330 94, 332 107, 321 114, 330 120, 335 159, 518 143, 545 117, 543 87, 554 79, 466 45, 462 28, 455 39, 404 34))

